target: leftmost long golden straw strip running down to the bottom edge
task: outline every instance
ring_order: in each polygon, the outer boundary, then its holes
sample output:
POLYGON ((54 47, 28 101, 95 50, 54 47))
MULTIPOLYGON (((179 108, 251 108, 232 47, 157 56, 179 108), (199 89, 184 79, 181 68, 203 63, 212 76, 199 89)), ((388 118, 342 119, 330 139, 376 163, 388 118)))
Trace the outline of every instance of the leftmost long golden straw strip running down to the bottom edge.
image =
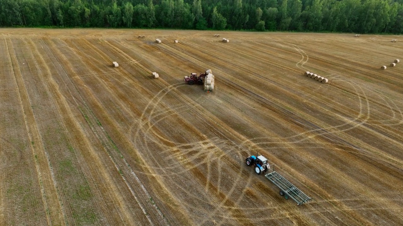
MULTIPOLYGON (((12 40, 9 39, 9 41, 11 48, 15 49, 12 40)), ((45 210, 49 210, 49 212, 47 212, 48 224, 49 225, 66 224, 67 222, 66 212, 63 208, 62 202, 58 194, 57 185, 55 184, 54 174, 52 173, 52 167, 50 166, 48 154, 46 153, 46 150, 44 150, 44 144, 42 143, 42 139, 40 138, 39 131, 35 122, 35 117, 33 115, 33 111, 30 108, 31 104, 29 95, 23 81, 21 68, 18 66, 19 61, 17 60, 15 51, 13 52, 13 54, 11 54, 9 48, 7 48, 7 50, 13 68, 18 68, 17 70, 13 69, 13 74, 15 76, 15 84, 17 86, 19 94, 21 109, 24 112, 25 127, 27 129, 27 135, 30 141, 30 148, 32 150, 32 155, 34 158, 35 156, 38 156, 37 158, 35 158, 35 166, 37 170, 39 184, 41 185, 44 208, 45 210), (42 167, 45 167, 45 165, 46 168, 41 169, 42 167), (44 178, 42 177, 42 173, 44 173, 45 175, 44 178), (48 175, 48 177, 46 177, 46 175, 48 175), (50 184, 52 184, 53 186, 50 184), (48 198, 51 201, 48 201, 48 198)))

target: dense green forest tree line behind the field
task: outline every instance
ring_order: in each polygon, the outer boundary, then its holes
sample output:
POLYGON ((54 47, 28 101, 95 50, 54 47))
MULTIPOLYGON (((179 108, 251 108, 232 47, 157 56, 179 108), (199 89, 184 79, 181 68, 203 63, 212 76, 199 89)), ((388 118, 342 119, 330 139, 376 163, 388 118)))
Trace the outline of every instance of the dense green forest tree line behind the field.
POLYGON ((0 26, 403 33, 403 0, 0 0, 0 26))

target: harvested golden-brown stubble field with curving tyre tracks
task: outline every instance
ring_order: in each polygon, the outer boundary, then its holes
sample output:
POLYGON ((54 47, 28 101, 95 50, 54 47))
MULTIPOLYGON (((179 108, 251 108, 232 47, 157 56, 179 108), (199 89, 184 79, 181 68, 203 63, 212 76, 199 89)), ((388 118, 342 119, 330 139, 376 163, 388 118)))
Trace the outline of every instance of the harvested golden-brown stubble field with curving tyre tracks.
POLYGON ((0 31, 0 225, 403 225, 397 36, 0 31))

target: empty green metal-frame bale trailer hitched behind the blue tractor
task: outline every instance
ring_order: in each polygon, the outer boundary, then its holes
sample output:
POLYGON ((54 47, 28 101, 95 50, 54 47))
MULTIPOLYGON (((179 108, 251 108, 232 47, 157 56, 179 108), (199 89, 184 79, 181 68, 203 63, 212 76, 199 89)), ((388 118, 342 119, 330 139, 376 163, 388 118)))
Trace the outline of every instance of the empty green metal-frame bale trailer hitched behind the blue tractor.
POLYGON ((291 199, 294 199, 294 201, 297 202, 297 205, 302 205, 312 199, 279 173, 274 171, 274 164, 270 165, 270 168, 268 168, 266 172, 267 173, 265 173, 264 176, 280 189, 280 195, 284 196, 285 199, 291 197, 291 199))

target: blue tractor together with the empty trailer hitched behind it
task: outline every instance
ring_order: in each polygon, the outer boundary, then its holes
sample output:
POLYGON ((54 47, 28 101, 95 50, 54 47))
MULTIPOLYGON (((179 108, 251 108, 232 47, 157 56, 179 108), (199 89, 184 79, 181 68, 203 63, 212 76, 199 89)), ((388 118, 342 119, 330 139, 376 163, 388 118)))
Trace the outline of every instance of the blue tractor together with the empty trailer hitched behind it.
POLYGON ((277 173, 274 170, 274 164, 270 165, 264 156, 248 156, 245 160, 247 166, 251 166, 252 164, 255 166, 255 172, 258 175, 264 172, 264 176, 280 189, 280 195, 284 196, 285 199, 291 197, 291 199, 297 202, 297 205, 302 205, 312 199, 277 173))

